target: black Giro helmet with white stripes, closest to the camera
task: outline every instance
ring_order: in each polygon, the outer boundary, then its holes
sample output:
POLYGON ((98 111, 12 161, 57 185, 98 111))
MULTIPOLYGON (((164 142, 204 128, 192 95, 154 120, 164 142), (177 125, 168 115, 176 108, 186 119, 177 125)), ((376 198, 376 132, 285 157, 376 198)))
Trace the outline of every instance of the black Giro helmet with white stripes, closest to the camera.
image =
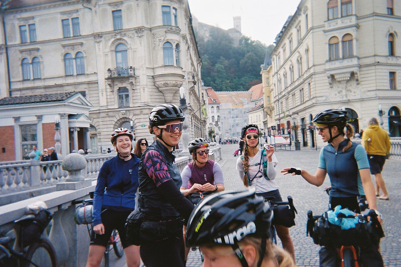
POLYGON ((186 245, 233 245, 250 234, 269 238, 273 212, 269 202, 257 196, 255 190, 250 187, 205 197, 189 217, 186 245))

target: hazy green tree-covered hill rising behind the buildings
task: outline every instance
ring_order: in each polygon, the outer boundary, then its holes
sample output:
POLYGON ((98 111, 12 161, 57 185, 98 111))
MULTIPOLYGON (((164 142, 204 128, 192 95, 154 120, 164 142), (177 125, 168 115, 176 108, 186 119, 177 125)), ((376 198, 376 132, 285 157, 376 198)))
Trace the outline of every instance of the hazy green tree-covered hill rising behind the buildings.
POLYGON ((258 40, 241 35, 235 38, 235 35, 229 34, 234 29, 223 30, 199 24, 203 29, 194 28, 194 31, 205 86, 211 86, 216 91, 240 91, 261 83, 260 65, 264 63, 266 51, 268 54, 273 51, 272 44, 267 47, 258 40))

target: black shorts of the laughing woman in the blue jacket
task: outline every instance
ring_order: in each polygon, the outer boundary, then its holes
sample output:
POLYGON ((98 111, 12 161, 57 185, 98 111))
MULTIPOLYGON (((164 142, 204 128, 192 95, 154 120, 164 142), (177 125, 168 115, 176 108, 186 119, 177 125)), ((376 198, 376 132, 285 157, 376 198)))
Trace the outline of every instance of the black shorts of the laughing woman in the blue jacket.
POLYGON ((97 235, 93 233, 93 235, 91 235, 91 245, 107 247, 113 229, 118 231, 124 249, 132 245, 127 240, 127 232, 125 229, 127 217, 131 212, 132 211, 113 211, 111 209, 103 210, 100 217, 104 225, 104 234, 97 235))

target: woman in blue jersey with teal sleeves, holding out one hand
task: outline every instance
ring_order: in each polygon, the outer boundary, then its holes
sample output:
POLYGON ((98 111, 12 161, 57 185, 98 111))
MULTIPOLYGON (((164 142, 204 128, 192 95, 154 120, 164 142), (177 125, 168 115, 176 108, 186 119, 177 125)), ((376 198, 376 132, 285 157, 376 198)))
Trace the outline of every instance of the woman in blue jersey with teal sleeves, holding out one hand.
MULTIPOLYGON (((323 142, 327 142, 328 145, 320 151, 316 173, 312 175, 304 169, 294 167, 284 168, 281 173, 301 175, 308 183, 318 187, 323 184, 328 174, 331 183, 329 207, 332 210, 341 205, 342 208, 359 213, 359 195, 366 195, 369 208, 377 209, 375 187, 371 180, 366 151, 362 145, 350 141, 354 129, 347 122, 345 110, 326 109, 319 112, 312 123, 315 124, 323 142)), ((383 266, 377 249, 361 248, 360 259, 364 267, 383 266)), ((319 257, 320 266, 336 266, 339 261, 337 251, 332 247, 322 247, 319 257)))

